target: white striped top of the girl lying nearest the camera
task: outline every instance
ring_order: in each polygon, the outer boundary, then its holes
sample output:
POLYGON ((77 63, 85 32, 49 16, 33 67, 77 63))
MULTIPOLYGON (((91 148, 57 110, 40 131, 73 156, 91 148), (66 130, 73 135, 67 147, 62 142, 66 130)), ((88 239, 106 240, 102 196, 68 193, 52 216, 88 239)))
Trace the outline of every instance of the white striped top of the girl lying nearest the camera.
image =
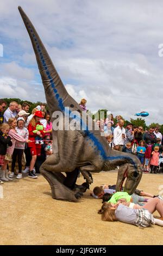
POLYGON ((118 221, 134 224, 137 220, 137 209, 131 209, 123 204, 119 204, 115 215, 118 221))

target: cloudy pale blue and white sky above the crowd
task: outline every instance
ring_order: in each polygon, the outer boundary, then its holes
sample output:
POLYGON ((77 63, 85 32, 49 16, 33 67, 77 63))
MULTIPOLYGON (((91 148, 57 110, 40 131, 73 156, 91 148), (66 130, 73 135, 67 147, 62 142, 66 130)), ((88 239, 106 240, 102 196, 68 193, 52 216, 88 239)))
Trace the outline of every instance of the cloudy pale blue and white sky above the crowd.
POLYGON ((1 97, 35 102, 45 94, 18 5, 77 102, 126 119, 148 111, 147 124, 163 123, 162 0, 1 0, 1 97))

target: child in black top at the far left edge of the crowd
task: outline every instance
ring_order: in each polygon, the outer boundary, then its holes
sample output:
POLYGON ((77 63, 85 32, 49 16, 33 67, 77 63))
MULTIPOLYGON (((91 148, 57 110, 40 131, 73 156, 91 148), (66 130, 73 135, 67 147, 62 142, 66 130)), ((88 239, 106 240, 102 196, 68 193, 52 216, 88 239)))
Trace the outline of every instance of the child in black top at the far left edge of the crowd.
MULTIPOLYGON (((12 146, 11 137, 8 136, 9 132, 9 125, 2 124, 1 131, 0 131, 0 166, 4 165, 5 154, 7 153, 7 148, 12 146)), ((8 181, 5 178, 5 172, 1 170, 1 178, 4 181, 8 181)), ((3 184, 3 181, 0 179, 0 184, 3 184)))

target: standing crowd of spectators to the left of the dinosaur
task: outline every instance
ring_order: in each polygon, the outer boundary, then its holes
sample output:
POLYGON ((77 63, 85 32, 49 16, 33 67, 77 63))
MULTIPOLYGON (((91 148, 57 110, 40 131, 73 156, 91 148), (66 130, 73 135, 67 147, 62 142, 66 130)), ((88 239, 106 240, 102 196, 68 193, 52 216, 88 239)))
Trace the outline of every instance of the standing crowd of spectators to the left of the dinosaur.
POLYGON ((22 178, 22 172, 36 179, 36 160, 40 157, 45 161, 52 154, 52 123, 46 105, 37 106, 32 114, 28 113, 29 107, 27 102, 18 105, 12 101, 7 108, 7 103, 0 100, 1 184, 12 181, 15 173, 16 179, 22 178))

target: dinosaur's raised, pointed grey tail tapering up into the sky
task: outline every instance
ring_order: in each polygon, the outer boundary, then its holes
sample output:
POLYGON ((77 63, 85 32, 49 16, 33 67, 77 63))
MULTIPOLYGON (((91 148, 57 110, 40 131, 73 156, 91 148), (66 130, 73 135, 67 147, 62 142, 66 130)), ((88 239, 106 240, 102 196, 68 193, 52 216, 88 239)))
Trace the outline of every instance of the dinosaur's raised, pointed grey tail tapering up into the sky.
MULTIPOLYGON (((32 22, 29 20, 28 16, 24 13, 21 7, 18 7, 18 10, 20 11, 24 25, 26 26, 30 40, 32 41, 37 65, 41 74, 43 86, 45 88, 46 100, 51 114, 54 111, 64 112, 64 107, 67 105, 78 105, 78 103, 74 101, 70 95, 68 95, 67 90, 65 89, 65 86, 62 83, 58 72, 52 63, 45 46, 42 44, 42 41, 32 22), (66 104, 67 100, 68 104, 66 104)), ((77 108, 80 108, 79 105, 77 108)))

